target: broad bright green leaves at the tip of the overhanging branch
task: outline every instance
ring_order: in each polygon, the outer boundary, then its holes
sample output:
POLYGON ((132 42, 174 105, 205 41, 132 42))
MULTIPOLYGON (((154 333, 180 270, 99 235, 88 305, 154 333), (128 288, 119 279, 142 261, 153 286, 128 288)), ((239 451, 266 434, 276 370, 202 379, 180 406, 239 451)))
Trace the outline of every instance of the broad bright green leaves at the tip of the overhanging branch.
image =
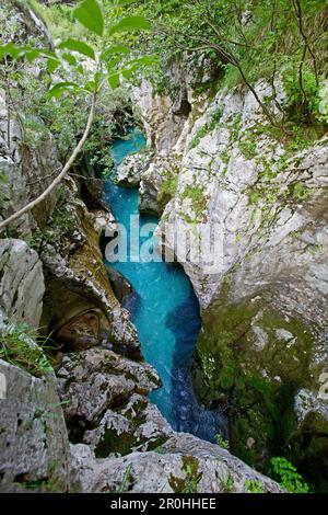
MULTIPOLYGON (((57 44, 55 52, 48 48, 38 48, 30 45, 15 45, 13 43, 7 43, 0 46, 0 58, 10 57, 13 60, 27 59, 28 62, 33 62, 38 59, 45 59, 47 61, 47 69, 49 72, 54 72, 61 67, 62 75, 67 65, 70 66, 69 80, 56 80, 56 83, 50 88, 48 92, 49 98, 60 98, 66 92, 84 92, 89 94, 96 94, 104 83, 109 83, 112 88, 116 88, 119 82, 119 78, 129 78, 131 73, 138 69, 140 65, 150 66, 152 59, 149 57, 145 60, 142 58, 129 59, 122 65, 122 55, 117 57, 119 54, 117 45, 115 48, 110 48, 110 45, 105 44, 105 39, 102 37, 104 33, 105 19, 102 9, 96 0, 83 0, 80 5, 73 10, 72 16, 78 20, 84 27, 96 34, 96 43, 91 44, 90 39, 68 38, 57 44), (96 57, 96 49, 101 49, 101 61, 96 57), (84 76, 83 62, 77 57, 77 54, 82 57, 91 58, 96 61, 93 72, 89 72, 84 76), (115 58, 108 56, 115 54, 115 58), (75 76, 75 81, 71 79, 75 76), (91 76, 91 78, 90 78, 91 76), (116 77, 113 81, 113 77, 116 77)), ((125 16, 119 20, 118 23, 112 24, 106 27, 107 33, 121 34, 127 30, 140 30, 148 28, 149 22, 141 16, 125 16)))

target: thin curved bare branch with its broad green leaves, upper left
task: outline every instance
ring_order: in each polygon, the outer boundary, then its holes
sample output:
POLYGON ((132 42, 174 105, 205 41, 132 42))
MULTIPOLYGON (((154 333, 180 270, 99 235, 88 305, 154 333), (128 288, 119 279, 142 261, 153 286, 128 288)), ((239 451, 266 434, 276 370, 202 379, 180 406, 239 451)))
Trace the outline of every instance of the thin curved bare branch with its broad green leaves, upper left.
MULTIPOLYGON (((117 10, 126 5, 127 0, 110 0, 110 4, 114 10, 117 10)), ((83 149, 90 134, 101 90, 104 87, 113 90, 116 89, 121 77, 129 79, 133 71, 138 70, 141 66, 152 64, 152 59, 149 56, 131 58, 130 48, 127 45, 108 45, 106 43, 108 36, 112 37, 116 34, 130 31, 149 30, 151 24, 144 18, 139 15, 125 16, 116 21, 112 26, 106 27, 104 14, 97 0, 83 0, 73 10, 73 16, 87 30, 87 33, 95 41, 94 45, 90 44, 89 38, 85 41, 68 38, 60 42, 54 50, 28 45, 15 45, 13 43, 0 46, 0 59, 4 59, 7 62, 19 59, 33 62, 36 59, 44 59, 47 64, 48 73, 54 78, 56 78, 55 72, 58 73, 60 68, 67 69, 67 67, 70 68, 72 77, 81 77, 79 81, 66 80, 52 83, 47 92, 49 98, 59 99, 67 92, 85 94, 90 98, 90 111, 84 131, 62 170, 37 198, 31 201, 5 220, 0 221, 0 231, 45 201, 67 175, 83 149), (84 60, 85 58, 89 59, 90 72, 86 73, 86 78, 85 75, 81 73, 81 70, 83 71, 81 58, 84 60)))

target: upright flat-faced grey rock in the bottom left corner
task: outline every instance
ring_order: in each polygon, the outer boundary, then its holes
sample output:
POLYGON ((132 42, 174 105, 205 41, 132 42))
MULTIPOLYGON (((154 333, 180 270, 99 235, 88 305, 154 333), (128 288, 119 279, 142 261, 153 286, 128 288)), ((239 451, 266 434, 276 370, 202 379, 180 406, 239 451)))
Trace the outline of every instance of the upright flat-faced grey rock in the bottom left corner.
POLYGON ((55 377, 0 360, 0 491, 66 492, 69 443, 55 377))

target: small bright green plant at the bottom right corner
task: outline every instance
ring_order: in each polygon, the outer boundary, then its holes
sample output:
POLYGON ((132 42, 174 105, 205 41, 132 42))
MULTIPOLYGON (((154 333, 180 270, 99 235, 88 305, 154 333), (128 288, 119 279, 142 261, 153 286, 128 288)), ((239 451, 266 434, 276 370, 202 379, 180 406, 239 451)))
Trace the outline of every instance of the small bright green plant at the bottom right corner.
POLYGON ((297 472, 289 460, 280 456, 271 458, 270 464, 274 478, 281 483, 281 485, 291 493, 308 493, 309 487, 304 481, 302 476, 297 472))

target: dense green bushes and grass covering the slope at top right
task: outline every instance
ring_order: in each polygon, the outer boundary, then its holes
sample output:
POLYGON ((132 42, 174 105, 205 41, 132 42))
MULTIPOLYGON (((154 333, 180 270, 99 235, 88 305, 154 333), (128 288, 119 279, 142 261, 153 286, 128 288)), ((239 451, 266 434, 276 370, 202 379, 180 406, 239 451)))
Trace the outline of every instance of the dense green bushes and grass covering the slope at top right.
POLYGON ((316 124, 319 134, 327 128, 325 0, 265 0, 247 5, 245 0, 140 0, 126 10, 153 22, 152 37, 131 44, 160 56, 150 78, 161 92, 168 91, 167 68, 187 50, 196 69, 201 66, 201 56, 212 69, 221 70, 227 89, 241 83, 250 89, 259 79, 277 84, 283 77, 288 101, 279 99, 272 88, 261 107, 284 135, 290 131, 290 122, 316 124), (279 105, 279 116, 276 110, 279 105))

